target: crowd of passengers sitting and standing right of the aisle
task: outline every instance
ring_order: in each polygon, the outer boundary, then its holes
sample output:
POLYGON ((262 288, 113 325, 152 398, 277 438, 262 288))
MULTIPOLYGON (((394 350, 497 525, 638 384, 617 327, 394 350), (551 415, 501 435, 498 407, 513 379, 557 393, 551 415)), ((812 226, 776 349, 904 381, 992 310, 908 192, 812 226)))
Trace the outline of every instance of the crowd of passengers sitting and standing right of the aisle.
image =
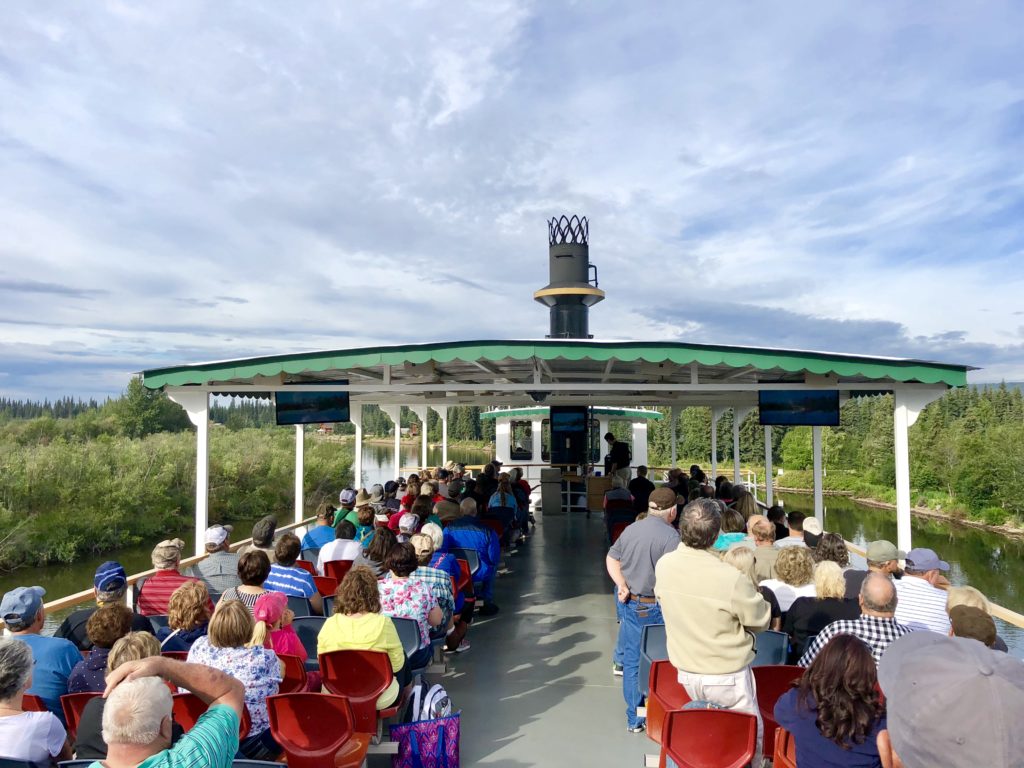
POLYGON ((1006 652, 985 597, 951 586, 933 550, 876 541, 855 568, 813 517, 762 514, 745 488, 696 465, 667 480, 639 467, 613 477, 604 502, 629 731, 646 727, 642 628, 664 624, 687 707, 754 715, 753 765, 770 760, 751 670, 770 629, 787 636, 787 664, 806 668, 774 708, 801 768, 1024 765, 1024 663, 1006 652))

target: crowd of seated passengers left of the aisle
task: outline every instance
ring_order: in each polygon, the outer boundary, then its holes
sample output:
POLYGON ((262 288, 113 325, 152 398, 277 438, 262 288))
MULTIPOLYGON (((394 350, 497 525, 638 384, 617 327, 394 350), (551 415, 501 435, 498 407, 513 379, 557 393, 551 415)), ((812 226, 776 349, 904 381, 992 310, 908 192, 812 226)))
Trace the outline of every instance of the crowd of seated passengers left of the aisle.
MULTIPOLYGON (((321 505, 301 540, 276 535, 268 516, 253 526, 251 544, 232 550, 232 526, 213 525, 206 556, 190 568, 181 566, 181 540, 162 541, 153 550, 154 573, 135 585, 134 610, 127 606, 125 569, 104 562, 93 581, 95 607, 70 614, 52 637, 42 634, 45 591, 11 590, 0 603, 0 758, 48 764, 75 757, 108 768, 279 759, 266 698, 284 680, 281 656, 307 658, 289 598, 306 598, 311 614, 327 607, 312 568, 298 565, 300 559, 314 562, 321 575, 326 563, 351 561, 316 653, 386 653, 394 678, 377 708, 392 706, 412 682, 410 670, 429 664, 432 640, 446 652, 467 651, 474 610, 498 612, 493 595, 503 540, 511 546, 528 536, 529 492, 500 462, 475 478, 449 464, 344 489, 339 507, 321 505), (468 584, 459 561, 466 550, 479 560, 468 584), (420 648, 408 658, 392 617, 419 628, 420 648), (162 655, 169 651, 187 660, 162 655), (187 733, 173 721, 167 683, 209 705, 187 733), (60 696, 90 691, 106 696, 85 706, 72 743, 60 696), (46 712, 28 711, 27 694, 46 712), (250 726, 240 741, 243 709, 250 726)), ((321 685, 319 675, 309 673, 306 689, 321 685)))

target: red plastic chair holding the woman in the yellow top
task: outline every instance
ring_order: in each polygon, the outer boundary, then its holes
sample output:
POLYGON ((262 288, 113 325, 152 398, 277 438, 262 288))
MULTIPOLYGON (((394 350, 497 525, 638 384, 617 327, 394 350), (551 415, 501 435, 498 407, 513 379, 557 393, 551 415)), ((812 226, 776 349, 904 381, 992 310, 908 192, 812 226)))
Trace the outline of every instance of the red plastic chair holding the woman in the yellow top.
POLYGON ((333 650, 321 653, 324 687, 344 696, 352 708, 355 730, 377 733, 379 720, 398 714, 401 697, 386 710, 377 709, 377 698, 394 677, 391 659, 377 650, 333 650))

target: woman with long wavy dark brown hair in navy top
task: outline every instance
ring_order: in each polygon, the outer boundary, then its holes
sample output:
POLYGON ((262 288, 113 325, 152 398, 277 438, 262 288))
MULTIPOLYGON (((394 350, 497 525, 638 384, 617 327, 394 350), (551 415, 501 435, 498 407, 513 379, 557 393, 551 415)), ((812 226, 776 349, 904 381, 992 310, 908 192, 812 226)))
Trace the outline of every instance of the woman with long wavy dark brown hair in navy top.
POLYGON ((775 705, 775 721, 793 734, 797 765, 889 768, 892 748, 871 651, 837 635, 795 687, 775 705))

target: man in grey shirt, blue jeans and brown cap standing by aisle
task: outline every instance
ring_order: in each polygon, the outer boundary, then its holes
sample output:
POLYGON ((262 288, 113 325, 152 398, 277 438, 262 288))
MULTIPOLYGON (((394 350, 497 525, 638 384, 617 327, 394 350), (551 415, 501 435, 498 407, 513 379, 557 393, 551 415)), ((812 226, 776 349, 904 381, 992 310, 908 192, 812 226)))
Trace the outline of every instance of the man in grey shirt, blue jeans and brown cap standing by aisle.
POLYGON ((640 733, 646 725, 637 718, 641 698, 637 684, 640 633, 648 624, 663 624, 662 608, 654 597, 654 565, 679 546, 679 535, 672 527, 675 519, 676 492, 655 489, 647 502, 647 517, 627 526, 604 561, 618 599, 615 651, 616 655, 622 654, 626 728, 632 733, 640 733))

